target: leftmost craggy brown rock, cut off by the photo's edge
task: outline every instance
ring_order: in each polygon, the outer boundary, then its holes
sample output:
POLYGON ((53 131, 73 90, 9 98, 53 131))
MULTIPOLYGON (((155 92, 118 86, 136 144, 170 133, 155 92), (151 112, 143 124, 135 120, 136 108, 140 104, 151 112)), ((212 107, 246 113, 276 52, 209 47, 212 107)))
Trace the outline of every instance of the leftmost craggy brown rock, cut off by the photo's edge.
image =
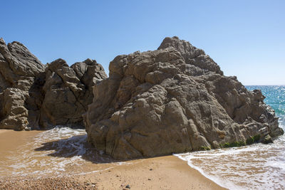
POLYGON ((38 127, 44 69, 23 44, 0 38, 0 129, 38 127))

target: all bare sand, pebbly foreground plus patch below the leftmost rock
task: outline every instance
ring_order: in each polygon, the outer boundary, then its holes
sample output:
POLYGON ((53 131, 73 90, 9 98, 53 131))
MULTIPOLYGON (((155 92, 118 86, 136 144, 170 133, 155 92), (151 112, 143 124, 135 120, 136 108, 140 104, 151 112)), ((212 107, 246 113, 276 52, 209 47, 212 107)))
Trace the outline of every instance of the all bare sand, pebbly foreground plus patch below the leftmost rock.
MULTIPOLYGON (((1 161, 6 159, 6 154, 16 154, 16 147, 28 143, 38 133, 0 130, 1 161)), ((128 189, 128 186, 130 189, 223 189, 175 156, 137 159, 121 165, 86 161, 81 169, 86 166, 86 171, 94 172, 67 173, 64 177, 0 175, 0 189, 128 189)), ((71 166, 66 172, 72 169, 78 168, 71 166)))

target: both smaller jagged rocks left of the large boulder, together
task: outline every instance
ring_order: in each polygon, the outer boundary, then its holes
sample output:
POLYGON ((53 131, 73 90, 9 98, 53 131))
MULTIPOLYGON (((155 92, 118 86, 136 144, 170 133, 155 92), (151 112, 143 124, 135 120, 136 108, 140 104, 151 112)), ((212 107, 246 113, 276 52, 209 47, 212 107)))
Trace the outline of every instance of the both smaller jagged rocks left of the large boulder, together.
POLYGON ((83 125, 92 86, 107 78, 102 65, 64 60, 43 65, 19 42, 0 38, 0 129, 43 129, 83 125))

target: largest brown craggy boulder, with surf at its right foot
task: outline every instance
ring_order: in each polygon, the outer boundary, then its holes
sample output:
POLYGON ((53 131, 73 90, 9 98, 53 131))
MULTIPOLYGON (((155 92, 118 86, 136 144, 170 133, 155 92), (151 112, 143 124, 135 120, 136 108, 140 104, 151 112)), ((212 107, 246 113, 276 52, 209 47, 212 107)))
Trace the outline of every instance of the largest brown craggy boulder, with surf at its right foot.
MULTIPOLYGON (((95 84, 88 141, 116 159, 242 146, 283 134, 259 90, 223 75, 177 37, 157 51, 117 56, 95 84)), ((267 141, 268 142, 268 141, 267 141)))

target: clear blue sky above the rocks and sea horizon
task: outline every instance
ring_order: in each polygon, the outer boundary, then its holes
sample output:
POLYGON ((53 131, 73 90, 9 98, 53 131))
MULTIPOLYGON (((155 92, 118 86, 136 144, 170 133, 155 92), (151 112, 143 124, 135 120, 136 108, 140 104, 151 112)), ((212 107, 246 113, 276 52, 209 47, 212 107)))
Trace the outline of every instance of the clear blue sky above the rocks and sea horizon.
POLYGON ((155 50, 166 36, 202 48, 244 85, 285 85, 285 1, 1 1, 0 37, 42 63, 155 50))

